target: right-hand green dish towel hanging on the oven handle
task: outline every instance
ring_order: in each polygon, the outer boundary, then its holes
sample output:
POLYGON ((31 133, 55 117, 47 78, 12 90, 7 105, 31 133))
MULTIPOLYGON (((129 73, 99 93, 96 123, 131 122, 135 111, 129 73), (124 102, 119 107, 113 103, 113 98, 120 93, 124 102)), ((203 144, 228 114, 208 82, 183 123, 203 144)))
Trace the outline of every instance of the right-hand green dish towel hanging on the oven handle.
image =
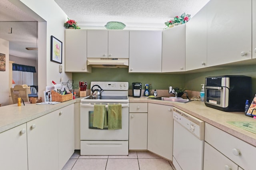
POLYGON ((108 130, 122 129, 122 105, 108 105, 108 130))

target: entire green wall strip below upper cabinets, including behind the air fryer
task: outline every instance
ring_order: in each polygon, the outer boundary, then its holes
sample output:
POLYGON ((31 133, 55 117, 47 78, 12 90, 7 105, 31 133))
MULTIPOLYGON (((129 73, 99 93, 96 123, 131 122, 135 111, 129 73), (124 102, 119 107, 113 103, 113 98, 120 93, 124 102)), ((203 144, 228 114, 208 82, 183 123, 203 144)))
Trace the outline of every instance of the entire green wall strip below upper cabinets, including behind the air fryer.
POLYGON ((218 75, 247 75, 252 77, 252 92, 256 93, 256 66, 233 67, 200 73, 164 74, 164 73, 128 73, 128 68, 92 68, 92 73, 73 73, 74 84, 87 81, 90 88, 91 81, 128 81, 129 89, 133 82, 152 84, 152 89, 168 89, 172 87, 186 87, 188 90, 200 91, 205 77, 218 75))

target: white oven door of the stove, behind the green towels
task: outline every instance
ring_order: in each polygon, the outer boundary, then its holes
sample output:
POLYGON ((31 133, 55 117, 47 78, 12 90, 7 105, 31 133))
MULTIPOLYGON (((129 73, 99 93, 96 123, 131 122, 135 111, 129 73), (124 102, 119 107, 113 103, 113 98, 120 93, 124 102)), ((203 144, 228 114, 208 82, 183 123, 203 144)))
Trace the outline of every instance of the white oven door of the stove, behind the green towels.
POLYGON ((129 136, 129 103, 80 103, 80 138, 81 140, 128 140, 129 136), (108 130, 92 127, 94 105, 121 104, 122 129, 108 130))

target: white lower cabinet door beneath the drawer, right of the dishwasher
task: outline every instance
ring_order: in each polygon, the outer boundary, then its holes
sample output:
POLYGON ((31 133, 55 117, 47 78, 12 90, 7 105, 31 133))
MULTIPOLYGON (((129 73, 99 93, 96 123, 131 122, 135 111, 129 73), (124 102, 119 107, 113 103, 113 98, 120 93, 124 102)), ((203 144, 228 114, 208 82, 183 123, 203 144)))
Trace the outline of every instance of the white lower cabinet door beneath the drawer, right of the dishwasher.
POLYGON ((204 142, 204 170, 237 170, 238 165, 204 142))

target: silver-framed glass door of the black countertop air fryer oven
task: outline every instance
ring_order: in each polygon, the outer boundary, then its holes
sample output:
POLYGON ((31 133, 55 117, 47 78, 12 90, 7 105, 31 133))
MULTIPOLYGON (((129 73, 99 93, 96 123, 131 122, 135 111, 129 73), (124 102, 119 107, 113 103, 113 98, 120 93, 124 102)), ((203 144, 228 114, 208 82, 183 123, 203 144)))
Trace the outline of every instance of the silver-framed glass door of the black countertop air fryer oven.
POLYGON ((205 100, 204 102, 210 105, 226 108, 228 107, 228 94, 227 87, 205 87, 205 100))

